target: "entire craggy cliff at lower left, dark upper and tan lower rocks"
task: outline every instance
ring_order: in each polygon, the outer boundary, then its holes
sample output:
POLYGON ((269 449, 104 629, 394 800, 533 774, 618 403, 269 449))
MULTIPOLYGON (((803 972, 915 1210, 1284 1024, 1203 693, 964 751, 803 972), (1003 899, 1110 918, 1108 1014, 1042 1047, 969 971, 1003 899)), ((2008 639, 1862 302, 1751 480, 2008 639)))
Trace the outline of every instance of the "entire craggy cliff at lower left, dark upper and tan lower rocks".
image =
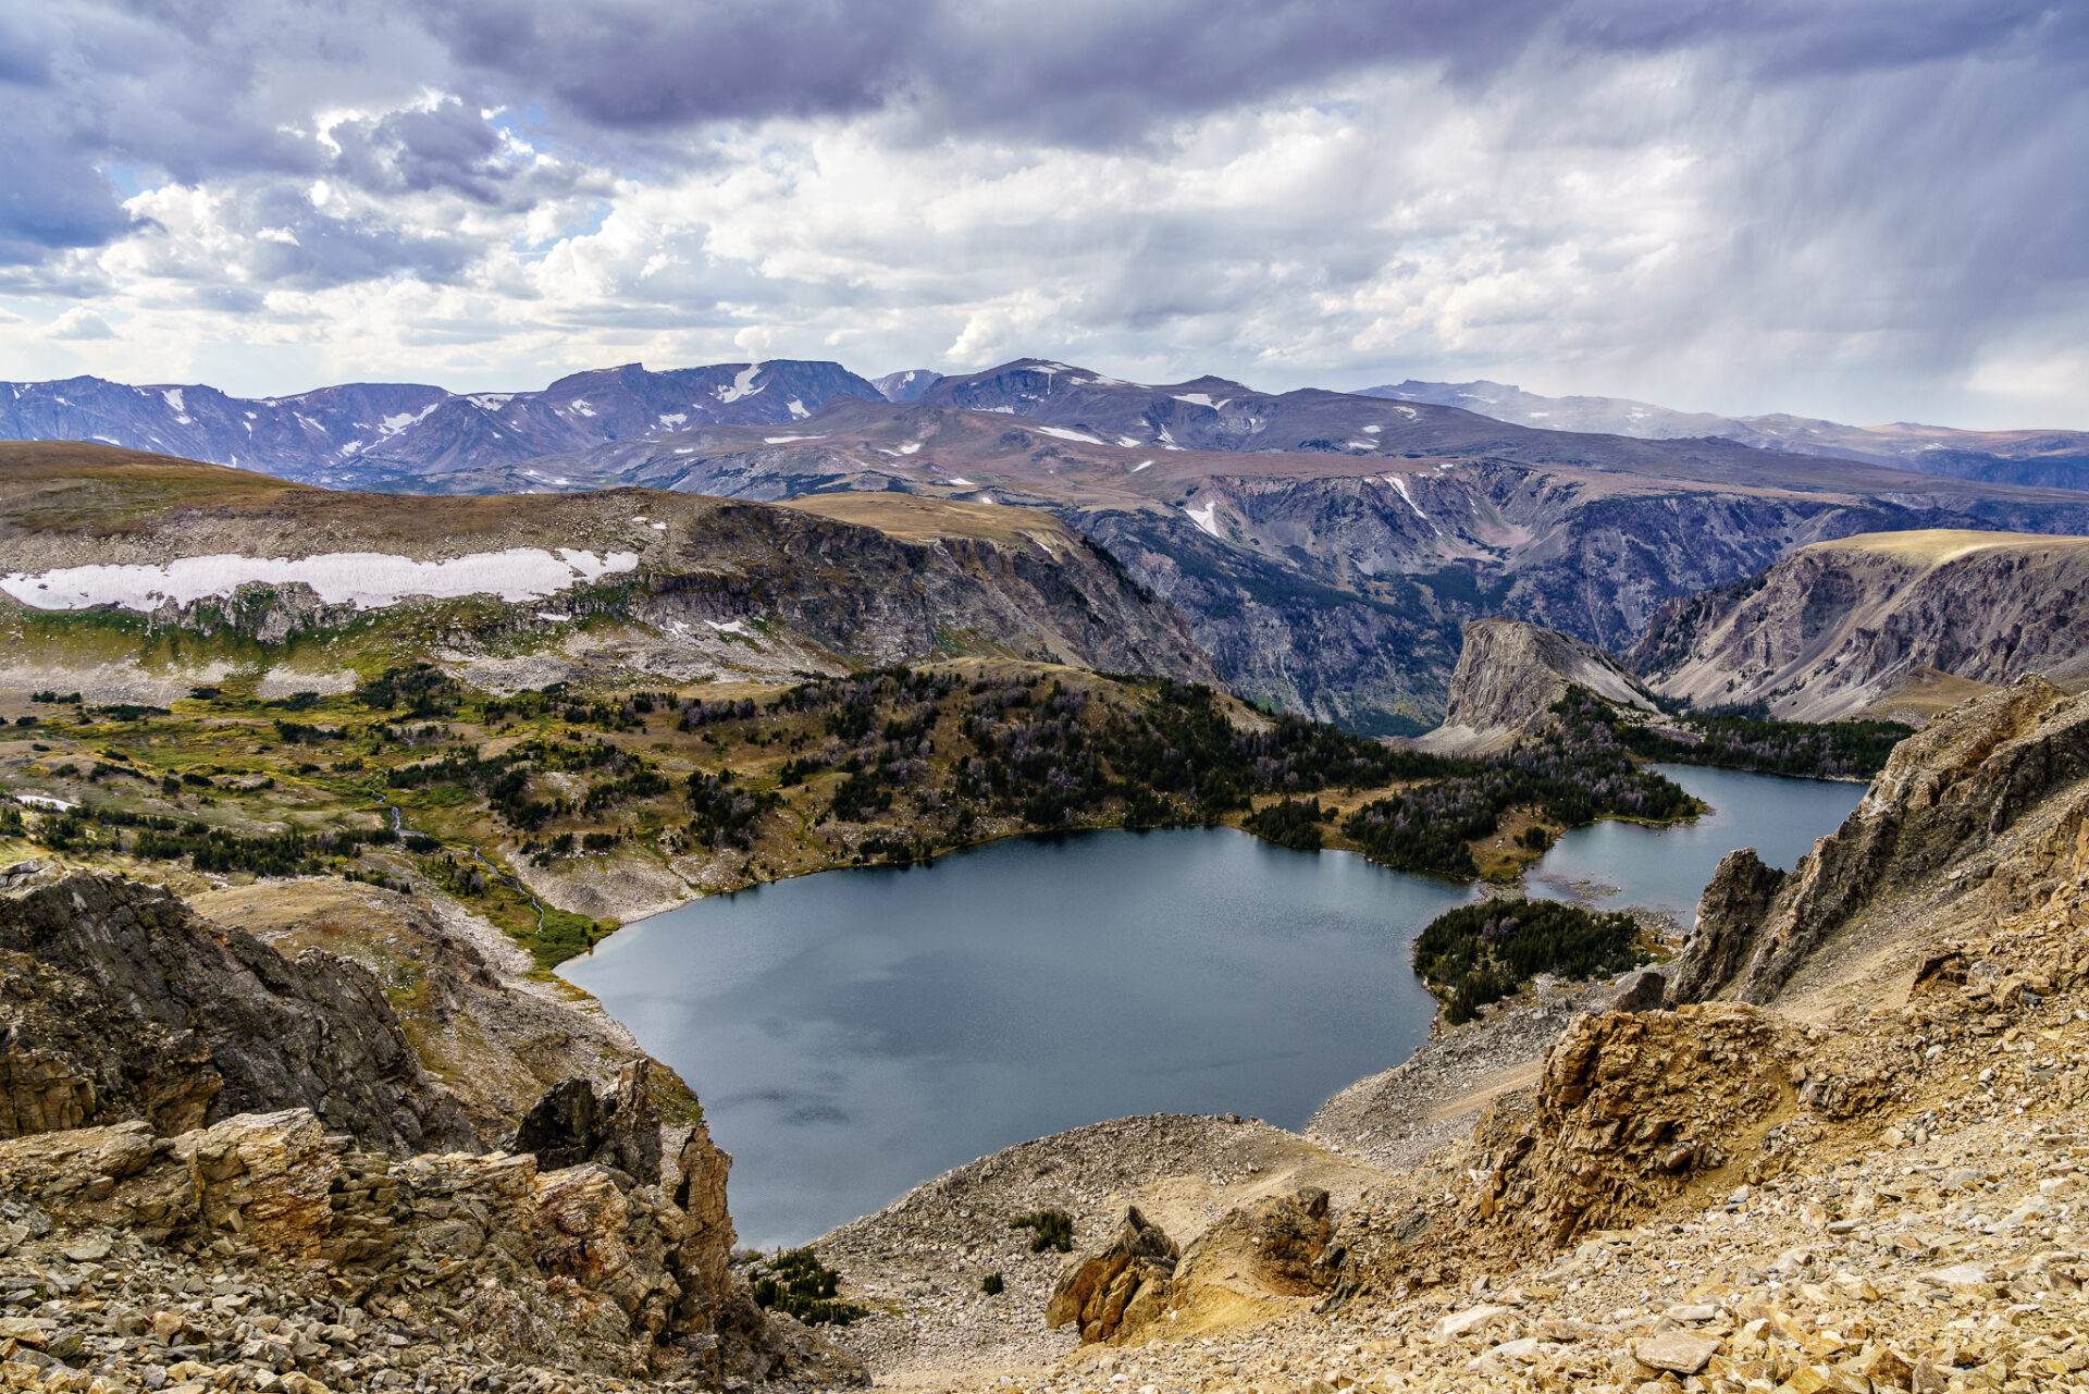
MULTIPOLYGON (((284 957, 165 890, 8 876, 25 878, 42 884, 0 897, 0 1191, 31 1223, 0 1223, 0 1254, 56 1225, 146 1267, 324 1275, 280 1300, 322 1300, 349 1331, 378 1312, 414 1340, 441 1327, 451 1348, 405 1365, 455 1361, 430 1388, 474 1384, 489 1352, 706 1384, 859 1377, 735 1292, 731 1158, 702 1120, 662 1126, 643 1055, 606 1093, 560 1081, 487 1154, 361 963, 284 957)), ((334 1331, 242 1358, 366 1388, 378 1369, 347 1371, 357 1338, 334 1331)))

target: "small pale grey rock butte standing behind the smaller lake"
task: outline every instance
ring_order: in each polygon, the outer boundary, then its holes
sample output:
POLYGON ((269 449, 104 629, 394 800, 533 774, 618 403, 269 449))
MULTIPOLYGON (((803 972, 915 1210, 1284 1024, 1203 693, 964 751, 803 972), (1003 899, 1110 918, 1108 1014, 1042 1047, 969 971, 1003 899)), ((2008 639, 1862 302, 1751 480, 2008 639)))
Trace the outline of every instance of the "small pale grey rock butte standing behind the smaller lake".
POLYGON ((1523 621, 1477 619, 1464 627, 1443 725, 1414 744, 1437 754, 1504 750, 1538 729, 1571 688, 1659 711, 1640 679, 1594 644, 1523 621))

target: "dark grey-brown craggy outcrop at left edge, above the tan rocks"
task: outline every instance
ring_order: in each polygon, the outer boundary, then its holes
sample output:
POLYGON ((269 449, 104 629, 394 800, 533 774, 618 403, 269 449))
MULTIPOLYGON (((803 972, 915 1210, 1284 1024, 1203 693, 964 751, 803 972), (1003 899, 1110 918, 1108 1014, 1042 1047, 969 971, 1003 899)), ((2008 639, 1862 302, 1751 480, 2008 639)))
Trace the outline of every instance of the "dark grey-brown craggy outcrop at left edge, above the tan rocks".
POLYGON ((0 899, 0 1137, 309 1108, 366 1145, 476 1147, 366 968, 111 876, 0 899))

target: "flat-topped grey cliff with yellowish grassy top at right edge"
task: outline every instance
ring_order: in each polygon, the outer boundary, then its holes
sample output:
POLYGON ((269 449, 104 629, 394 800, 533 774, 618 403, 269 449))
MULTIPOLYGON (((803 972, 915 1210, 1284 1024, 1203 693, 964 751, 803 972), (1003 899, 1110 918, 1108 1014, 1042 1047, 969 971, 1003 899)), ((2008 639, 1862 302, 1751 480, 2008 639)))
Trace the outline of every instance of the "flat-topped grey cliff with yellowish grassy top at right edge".
POLYGON ((2089 543, 2020 533, 1868 533, 1801 548, 1763 575, 1671 600, 1632 652, 1665 694, 1849 717, 1928 671, 1976 683, 2089 669, 2089 543))

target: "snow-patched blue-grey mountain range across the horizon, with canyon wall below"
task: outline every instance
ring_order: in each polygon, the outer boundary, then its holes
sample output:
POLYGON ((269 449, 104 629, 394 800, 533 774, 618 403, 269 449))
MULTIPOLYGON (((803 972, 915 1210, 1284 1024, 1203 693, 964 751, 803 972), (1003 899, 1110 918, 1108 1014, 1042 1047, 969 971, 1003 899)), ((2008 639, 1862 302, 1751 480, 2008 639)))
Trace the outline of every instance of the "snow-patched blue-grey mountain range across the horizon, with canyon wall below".
POLYGON ((1034 357, 877 382, 777 359, 625 366, 535 393, 363 385, 259 401, 75 378, 0 387, 6 435, 391 493, 641 485, 1038 508, 1172 604, 1243 696, 1366 731, 1435 725, 1471 619, 1625 650, 1663 602, 1807 543, 1934 527, 2089 533, 2089 493, 1905 460, 1535 428, 1456 403, 1214 376, 1126 382, 1034 357))

